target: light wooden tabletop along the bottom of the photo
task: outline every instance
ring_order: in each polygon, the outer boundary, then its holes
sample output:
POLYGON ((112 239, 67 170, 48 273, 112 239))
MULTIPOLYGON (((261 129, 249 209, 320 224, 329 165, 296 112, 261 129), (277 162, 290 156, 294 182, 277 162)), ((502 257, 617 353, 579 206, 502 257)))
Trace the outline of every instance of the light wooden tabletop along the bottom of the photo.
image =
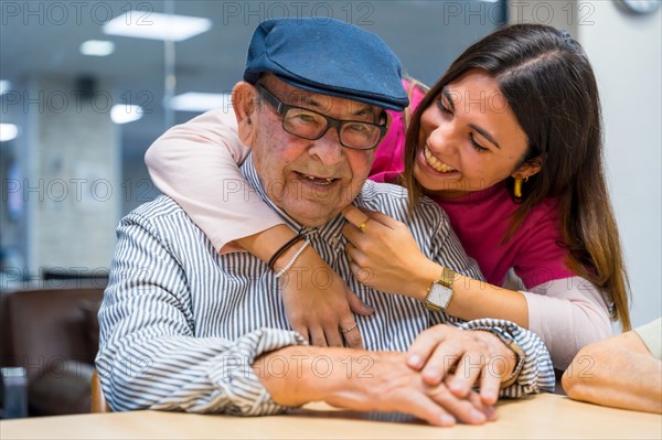
POLYGON ((482 427, 436 428, 418 421, 313 404, 271 417, 132 411, 0 421, 0 439, 661 439, 662 416, 605 408, 557 395, 502 401, 482 427))

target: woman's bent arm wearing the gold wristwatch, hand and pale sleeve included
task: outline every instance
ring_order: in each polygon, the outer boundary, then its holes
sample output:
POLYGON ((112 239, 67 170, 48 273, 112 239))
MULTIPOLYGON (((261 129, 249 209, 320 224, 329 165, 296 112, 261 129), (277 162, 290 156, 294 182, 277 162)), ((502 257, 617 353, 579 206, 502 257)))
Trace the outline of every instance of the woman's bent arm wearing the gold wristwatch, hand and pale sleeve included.
MULTIPOLYGON (((420 253, 406 225, 378 213, 346 210, 353 225, 370 218, 363 232, 349 225, 344 233, 357 270, 372 273, 370 287, 425 301, 430 282, 442 267, 420 253)), ((555 367, 565 369, 586 344, 611 335, 609 312, 600 292, 579 277, 549 281, 532 292, 504 289, 457 273, 446 311, 471 321, 508 320, 537 333, 549 348, 555 367)))

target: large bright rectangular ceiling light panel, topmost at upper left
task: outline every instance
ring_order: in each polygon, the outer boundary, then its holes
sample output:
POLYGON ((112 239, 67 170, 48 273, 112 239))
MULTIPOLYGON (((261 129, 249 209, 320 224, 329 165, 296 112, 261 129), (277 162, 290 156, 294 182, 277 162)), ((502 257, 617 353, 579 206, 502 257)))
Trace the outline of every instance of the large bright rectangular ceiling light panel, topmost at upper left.
POLYGON ((104 33, 137 39, 183 41, 211 28, 210 19, 129 11, 104 24, 104 33))

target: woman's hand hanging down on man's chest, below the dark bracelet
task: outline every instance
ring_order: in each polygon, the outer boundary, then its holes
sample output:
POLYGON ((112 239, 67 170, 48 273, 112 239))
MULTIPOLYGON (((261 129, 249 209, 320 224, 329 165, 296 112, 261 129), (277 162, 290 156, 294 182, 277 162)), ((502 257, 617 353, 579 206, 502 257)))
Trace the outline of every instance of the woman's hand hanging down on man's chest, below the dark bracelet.
POLYGON ((352 311, 369 315, 373 310, 314 249, 307 248, 279 281, 287 319, 312 345, 343 346, 344 339, 352 348, 363 347, 352 311))

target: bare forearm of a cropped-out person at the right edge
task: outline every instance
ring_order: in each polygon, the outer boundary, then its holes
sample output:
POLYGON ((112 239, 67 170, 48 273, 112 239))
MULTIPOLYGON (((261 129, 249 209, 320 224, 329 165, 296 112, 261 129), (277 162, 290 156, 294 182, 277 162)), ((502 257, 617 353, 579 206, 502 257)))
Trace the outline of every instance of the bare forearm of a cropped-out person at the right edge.
POLYGON ((662 414, 662 362, 633 331, 581 348, 562 384, 572 399, 662 414))

